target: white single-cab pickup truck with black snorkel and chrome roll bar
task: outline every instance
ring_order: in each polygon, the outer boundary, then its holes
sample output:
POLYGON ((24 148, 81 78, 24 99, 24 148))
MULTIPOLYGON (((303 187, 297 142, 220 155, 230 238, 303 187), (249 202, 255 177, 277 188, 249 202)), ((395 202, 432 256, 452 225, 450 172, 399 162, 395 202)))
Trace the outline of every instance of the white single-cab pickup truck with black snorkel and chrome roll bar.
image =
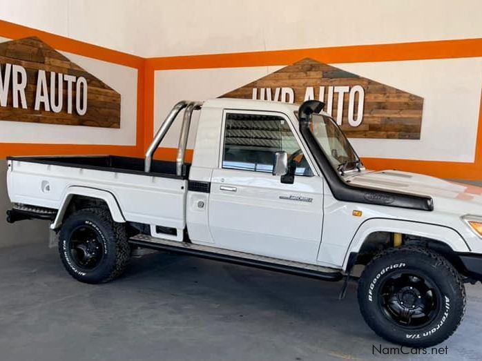
POLYGON ((442 342, 463 318, 464 282, 482 280, 482 188, 366 170, 322 108, 180 101, 145 159, 9 157, 8 222, 50 219, 68 273, 88 283, 119 276, 137 247, 345 280, 340 296, 361 264, 360 311, 378 335, 442 342), (153 160, 175 119, 176 162, 153 160))

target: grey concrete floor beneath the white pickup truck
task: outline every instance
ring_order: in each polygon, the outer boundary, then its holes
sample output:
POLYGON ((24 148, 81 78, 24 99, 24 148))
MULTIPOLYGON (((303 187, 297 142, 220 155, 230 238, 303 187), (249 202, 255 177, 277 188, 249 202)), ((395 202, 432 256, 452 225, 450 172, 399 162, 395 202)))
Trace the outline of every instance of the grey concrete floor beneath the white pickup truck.
MULTIPOLYGON (((133 259, 110 284, 63 269, 56 249, 0 249, 0 360, 366 360, 378 338, 358 312, 356 288, 193 257, 133 259)), ((448 355, 480 360, 482 286, 467 286, 448 355)), ((383 356, 389 358, 389 356, 383 356)), ((396 359, 392 357, 392 359, 396 359)))

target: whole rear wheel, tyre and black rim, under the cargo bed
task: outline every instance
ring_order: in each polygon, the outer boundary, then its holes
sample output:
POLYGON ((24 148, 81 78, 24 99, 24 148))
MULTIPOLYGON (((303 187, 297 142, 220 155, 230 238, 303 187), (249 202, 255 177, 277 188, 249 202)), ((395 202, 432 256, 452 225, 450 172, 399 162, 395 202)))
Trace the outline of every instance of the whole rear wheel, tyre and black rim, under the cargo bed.
POLYGON ((76 280, 93 284, 113 280, 129 259, 125 226, 114 222, 103 208, 77 211, 62 225, 59 253, 76 280))

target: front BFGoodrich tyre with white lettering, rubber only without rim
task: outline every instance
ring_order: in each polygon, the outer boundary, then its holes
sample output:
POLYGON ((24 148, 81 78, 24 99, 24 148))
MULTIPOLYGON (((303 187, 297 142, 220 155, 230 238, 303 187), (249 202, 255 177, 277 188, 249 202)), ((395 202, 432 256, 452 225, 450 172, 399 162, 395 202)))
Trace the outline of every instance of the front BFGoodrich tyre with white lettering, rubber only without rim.
POLYGON ((385 340, 408 347, 432 347, 449 338, 461 323, 465 287, 454 266, 438 253, 419 246, 389 248, 365 267, 358 282, 358 304, 365 322, 385 340), (396 324, 380 306, 384 282, 411 272, 426 277, 442 295, 433 320, 418 327, 396 324))

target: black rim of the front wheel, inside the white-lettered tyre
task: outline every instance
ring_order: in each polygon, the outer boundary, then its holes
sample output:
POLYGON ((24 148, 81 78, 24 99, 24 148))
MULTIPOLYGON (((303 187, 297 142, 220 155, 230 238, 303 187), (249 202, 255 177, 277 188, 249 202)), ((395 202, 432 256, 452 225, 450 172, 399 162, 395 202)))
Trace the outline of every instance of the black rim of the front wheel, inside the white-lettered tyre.
POLYGON ((378 305, 398 326, 420 329, 430 324, 441 307, 441 292, 427 276, 415 271, 394 272, 380 285, 378 305))

